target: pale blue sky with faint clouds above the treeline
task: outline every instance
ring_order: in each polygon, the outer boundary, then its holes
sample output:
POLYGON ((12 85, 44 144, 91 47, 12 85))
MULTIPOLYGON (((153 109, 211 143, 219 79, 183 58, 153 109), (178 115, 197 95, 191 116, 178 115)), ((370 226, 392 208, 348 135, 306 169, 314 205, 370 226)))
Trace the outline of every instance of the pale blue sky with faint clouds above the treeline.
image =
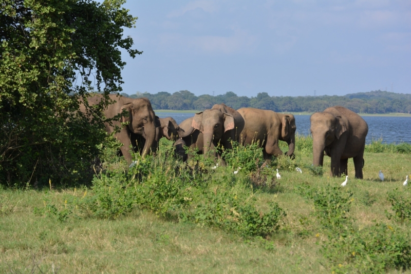
POLYGON ((123 90, 411 93, 411 1, 141 1, 123 90))

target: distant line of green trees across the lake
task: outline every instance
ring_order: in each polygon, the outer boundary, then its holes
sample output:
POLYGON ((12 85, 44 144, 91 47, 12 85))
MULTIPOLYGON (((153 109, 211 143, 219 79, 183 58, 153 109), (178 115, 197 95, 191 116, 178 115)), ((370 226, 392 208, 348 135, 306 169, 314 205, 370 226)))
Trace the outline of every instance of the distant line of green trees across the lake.
POLYGON ((389 113, 411 111, 411 94, 394 93, 387 91, 370 91, 347 94, 344 96, 270 96, 267 92, 257 93, 255 97, 237 96, 232 91, 222 95, 211 96, 208 94, 196 96, 188 90, 174 92, 137 92, 137 94, 124 96, 132 98, 147 97, 154 109, 171 110, 203 110, 211 108, 214 104, 225 103, 239 109, 253 107, 271 109, 278 112, 315 112, 323 111, 331 106, 343 106, 358 113, 389 113))

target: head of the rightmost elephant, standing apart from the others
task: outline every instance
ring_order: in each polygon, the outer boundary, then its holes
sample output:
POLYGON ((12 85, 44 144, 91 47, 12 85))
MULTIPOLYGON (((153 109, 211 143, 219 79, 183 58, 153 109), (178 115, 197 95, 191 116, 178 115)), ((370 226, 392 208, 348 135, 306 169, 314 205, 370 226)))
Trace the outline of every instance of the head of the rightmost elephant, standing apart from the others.
POLYGON ((341 134, 347 130, 347 126, 341 116, 335 116, 327 112, 315 112, 310 117, 312 134, 313 165, 322 166, 324 150, 335 139, 340 139, 341 134))

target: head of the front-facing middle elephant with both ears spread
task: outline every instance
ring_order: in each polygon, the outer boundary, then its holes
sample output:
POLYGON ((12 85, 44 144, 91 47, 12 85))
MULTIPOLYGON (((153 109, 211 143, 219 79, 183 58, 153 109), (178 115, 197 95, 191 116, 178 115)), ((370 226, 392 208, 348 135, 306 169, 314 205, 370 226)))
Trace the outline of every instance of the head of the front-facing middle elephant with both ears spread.
POLYGON ((191 126, 203 134, 203 153, 207 155, 211 145, 217 146, 224 132, 234 129, 234 118, 218 109, 206 109, 194 115, 191 126))

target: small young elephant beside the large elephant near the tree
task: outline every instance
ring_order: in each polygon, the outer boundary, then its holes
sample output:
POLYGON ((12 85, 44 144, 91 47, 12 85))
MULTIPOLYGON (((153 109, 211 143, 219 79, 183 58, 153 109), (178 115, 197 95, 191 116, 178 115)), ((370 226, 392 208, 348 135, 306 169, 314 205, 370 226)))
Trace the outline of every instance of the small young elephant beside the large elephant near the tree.
MULTIPOLYGON (((167 140, 175 142, 179 138, 179 136, 182 136, 184 133, 184 130, 182 130, 179 127, 176 120, 174 120, 172 117, 159 118, 158 116, 156 116, 155 124, 156 124, 156 137, 155 137, 155 140, 151 148, 153 152, 157 150, 158 142, 160 142, 161 138, 165 137, 167 140)), ((145 145, 145 139, 142 138, 141 135, 137 135, 137 134, 133 134, 131 138, 136 139, 135 141, 135 143, 137 144, 136 150, 139 150, 141 153, 142 148, 145 145)))

